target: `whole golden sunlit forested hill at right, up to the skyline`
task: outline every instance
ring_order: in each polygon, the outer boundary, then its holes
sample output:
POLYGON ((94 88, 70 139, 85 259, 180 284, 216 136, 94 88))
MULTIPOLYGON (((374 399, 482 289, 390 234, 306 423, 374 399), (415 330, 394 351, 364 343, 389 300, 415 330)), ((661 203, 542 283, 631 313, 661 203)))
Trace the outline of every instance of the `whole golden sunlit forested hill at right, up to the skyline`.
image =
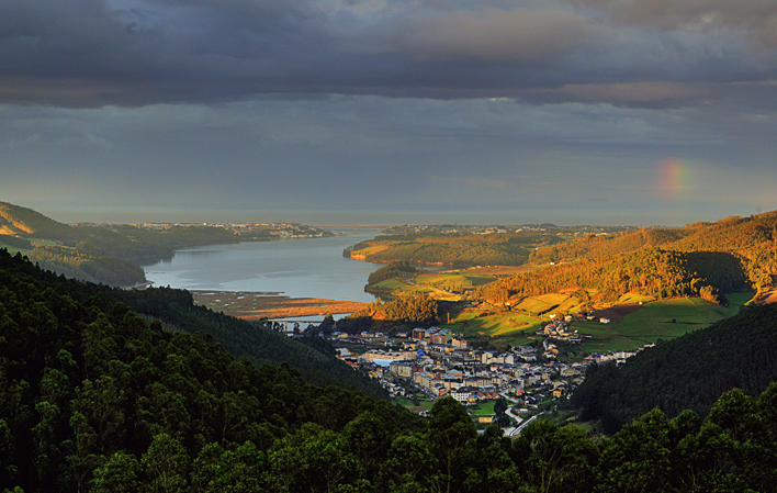
POLYGON ((772 287, 777 277, 777 212, 728 217, 678 229, 644 228, 545 246, 530 261, 562 264, 482 288, 489 301, 593 289, 604 301, 629 291, 656 299, 722 301, 737 289, 772 287))

